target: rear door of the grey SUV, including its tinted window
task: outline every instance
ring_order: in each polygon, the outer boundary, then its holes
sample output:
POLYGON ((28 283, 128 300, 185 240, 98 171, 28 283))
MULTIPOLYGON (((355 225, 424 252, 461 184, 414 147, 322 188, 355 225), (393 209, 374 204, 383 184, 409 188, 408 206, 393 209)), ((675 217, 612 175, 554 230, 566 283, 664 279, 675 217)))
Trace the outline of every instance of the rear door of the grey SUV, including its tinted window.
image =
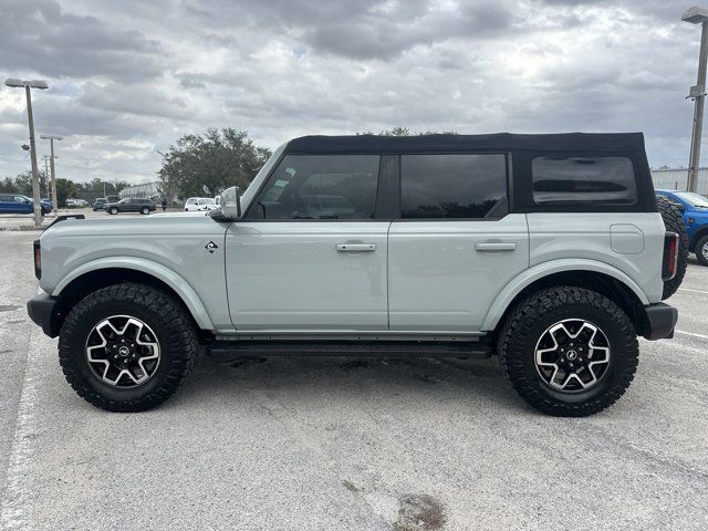
POLYGON ((402 155, 400 218, 388 238, 389 323, 480 330, 497 293, 529 267, 525 215, 509 214, 508 155, 402 155))

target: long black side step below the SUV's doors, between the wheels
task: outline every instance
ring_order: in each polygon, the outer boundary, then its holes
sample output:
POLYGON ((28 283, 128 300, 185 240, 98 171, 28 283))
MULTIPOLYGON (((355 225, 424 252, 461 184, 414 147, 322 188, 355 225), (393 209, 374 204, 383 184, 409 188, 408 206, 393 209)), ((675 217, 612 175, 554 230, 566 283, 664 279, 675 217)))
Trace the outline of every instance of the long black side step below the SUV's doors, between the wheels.
POLYGON ((483 360, 492 352, 480 341, 218 341, 206 347, 217 360, 241 356, 423 356, 483 360))

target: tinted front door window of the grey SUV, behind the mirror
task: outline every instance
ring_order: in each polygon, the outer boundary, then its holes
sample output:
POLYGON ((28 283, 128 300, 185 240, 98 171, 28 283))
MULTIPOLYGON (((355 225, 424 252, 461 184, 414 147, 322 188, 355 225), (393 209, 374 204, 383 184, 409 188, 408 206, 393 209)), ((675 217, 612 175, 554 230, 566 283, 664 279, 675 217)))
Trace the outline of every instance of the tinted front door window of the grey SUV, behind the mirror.
POLYGON ((374 217, 378 155, 287 155, 251 205, 250 219, 374 217))

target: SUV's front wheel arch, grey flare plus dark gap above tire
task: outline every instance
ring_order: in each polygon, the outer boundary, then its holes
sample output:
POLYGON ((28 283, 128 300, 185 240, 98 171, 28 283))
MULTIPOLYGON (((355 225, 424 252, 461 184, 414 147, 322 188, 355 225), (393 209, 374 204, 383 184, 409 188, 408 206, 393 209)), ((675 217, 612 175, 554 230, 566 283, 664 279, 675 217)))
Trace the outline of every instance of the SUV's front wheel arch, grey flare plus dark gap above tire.
POLYGON ((88 293, 122 282, 147 284, 167 292, 185 306, 197 327, 214 330, 205 304, 183 277, 163 264, 136 258, 94 260, 62 279, 51 293, 59 300, 56 323, 52 323, 52 329, 58 332, 71 308, 88 293))

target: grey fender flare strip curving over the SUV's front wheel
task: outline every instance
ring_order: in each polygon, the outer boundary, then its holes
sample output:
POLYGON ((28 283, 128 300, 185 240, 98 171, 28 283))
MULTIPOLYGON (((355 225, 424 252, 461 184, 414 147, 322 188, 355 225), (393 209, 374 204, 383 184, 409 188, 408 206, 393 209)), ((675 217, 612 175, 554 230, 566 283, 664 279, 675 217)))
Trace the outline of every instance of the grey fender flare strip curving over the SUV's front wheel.
POLYGON ((214 330, 214 323, 209 313, 207 312, 206 306, 201 302, 201 299, 195 291, 195 289, 189 285, 189 283, 183 279, 179 274, 177 274, 171 269, 163 266, 162 263, 157 263, 150 260, 146 260, 143 258, 135 257, 111 257, 111 258, 101 258, 97 260, 92 260, 90 262, 85 262, 77 268, 73 269, 71 273, 64 277, 56 288, 52 291, 52 296, 59 296, 61 292, 74 280, 79 277, 90 273, 92 271, 97 271, 101 269, 133 269, 136 271, 142 271, 144 273, 150 274, 156 279, 162 280, 167 285, 169 285, 177 295, 183 300, 183 302, 187 305, 187 309, 191 313, 191 316, 195 319, 197 325, 202 330, 214 330))

